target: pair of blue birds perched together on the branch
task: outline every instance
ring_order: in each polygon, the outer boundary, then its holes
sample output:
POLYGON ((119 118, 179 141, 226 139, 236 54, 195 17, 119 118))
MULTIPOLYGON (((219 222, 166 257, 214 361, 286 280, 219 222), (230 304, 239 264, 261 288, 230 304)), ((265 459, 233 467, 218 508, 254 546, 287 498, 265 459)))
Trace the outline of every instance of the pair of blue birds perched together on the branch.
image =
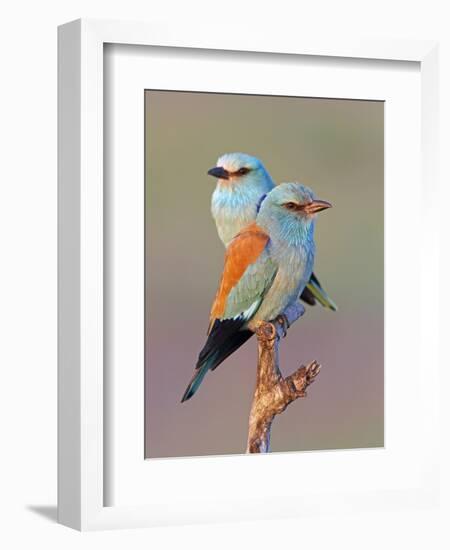
POLYGON ((211 211, 225 265, 208 338, 182 402, 261 321, 275 319, 299 297, 336 310, 313 273, 315 216, 331 204, 300 183, 275 186, 262 162, 243 153, 223 155, 208 174, 217 178, 211 211))

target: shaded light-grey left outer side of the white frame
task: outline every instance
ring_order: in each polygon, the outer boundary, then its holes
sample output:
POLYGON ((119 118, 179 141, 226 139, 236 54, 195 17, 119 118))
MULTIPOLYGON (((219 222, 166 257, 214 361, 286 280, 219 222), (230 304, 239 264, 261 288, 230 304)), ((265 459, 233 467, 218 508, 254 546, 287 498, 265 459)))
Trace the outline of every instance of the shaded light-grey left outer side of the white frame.
POLYGON ((81 529, 81 21, 58 27, 58 522, 81 529))

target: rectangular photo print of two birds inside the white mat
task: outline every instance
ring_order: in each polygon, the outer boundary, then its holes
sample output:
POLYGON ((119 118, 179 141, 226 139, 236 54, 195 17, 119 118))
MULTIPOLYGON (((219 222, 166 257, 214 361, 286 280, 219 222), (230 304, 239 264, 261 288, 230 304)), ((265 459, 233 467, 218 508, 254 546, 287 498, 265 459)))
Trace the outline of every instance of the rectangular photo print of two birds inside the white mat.
POLYGON ((384 445, 384 103, 145 91, 145 457, 384 445))

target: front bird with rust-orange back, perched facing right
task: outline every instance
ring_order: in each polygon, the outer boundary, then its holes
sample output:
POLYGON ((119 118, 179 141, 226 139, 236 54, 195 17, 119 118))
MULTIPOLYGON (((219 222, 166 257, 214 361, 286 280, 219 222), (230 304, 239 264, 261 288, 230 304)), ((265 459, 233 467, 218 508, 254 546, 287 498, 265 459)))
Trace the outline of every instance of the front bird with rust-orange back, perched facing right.
POLYGON ((276 319, 298 299, 313 271, 316 214, 330 207, 305 185, 282 183, 267 194, 256 220, 231 240, 207 340, 182 402, 262 321, 276 319))

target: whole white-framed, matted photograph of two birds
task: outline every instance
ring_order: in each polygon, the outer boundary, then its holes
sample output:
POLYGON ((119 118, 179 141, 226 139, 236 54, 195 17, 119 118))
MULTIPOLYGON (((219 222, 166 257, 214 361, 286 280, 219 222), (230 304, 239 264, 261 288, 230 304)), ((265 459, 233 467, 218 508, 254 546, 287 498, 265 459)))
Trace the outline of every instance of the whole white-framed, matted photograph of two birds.
POLYGON ((59 521, 433 504, 436 43, 179 31, 59 28, 59 521))

